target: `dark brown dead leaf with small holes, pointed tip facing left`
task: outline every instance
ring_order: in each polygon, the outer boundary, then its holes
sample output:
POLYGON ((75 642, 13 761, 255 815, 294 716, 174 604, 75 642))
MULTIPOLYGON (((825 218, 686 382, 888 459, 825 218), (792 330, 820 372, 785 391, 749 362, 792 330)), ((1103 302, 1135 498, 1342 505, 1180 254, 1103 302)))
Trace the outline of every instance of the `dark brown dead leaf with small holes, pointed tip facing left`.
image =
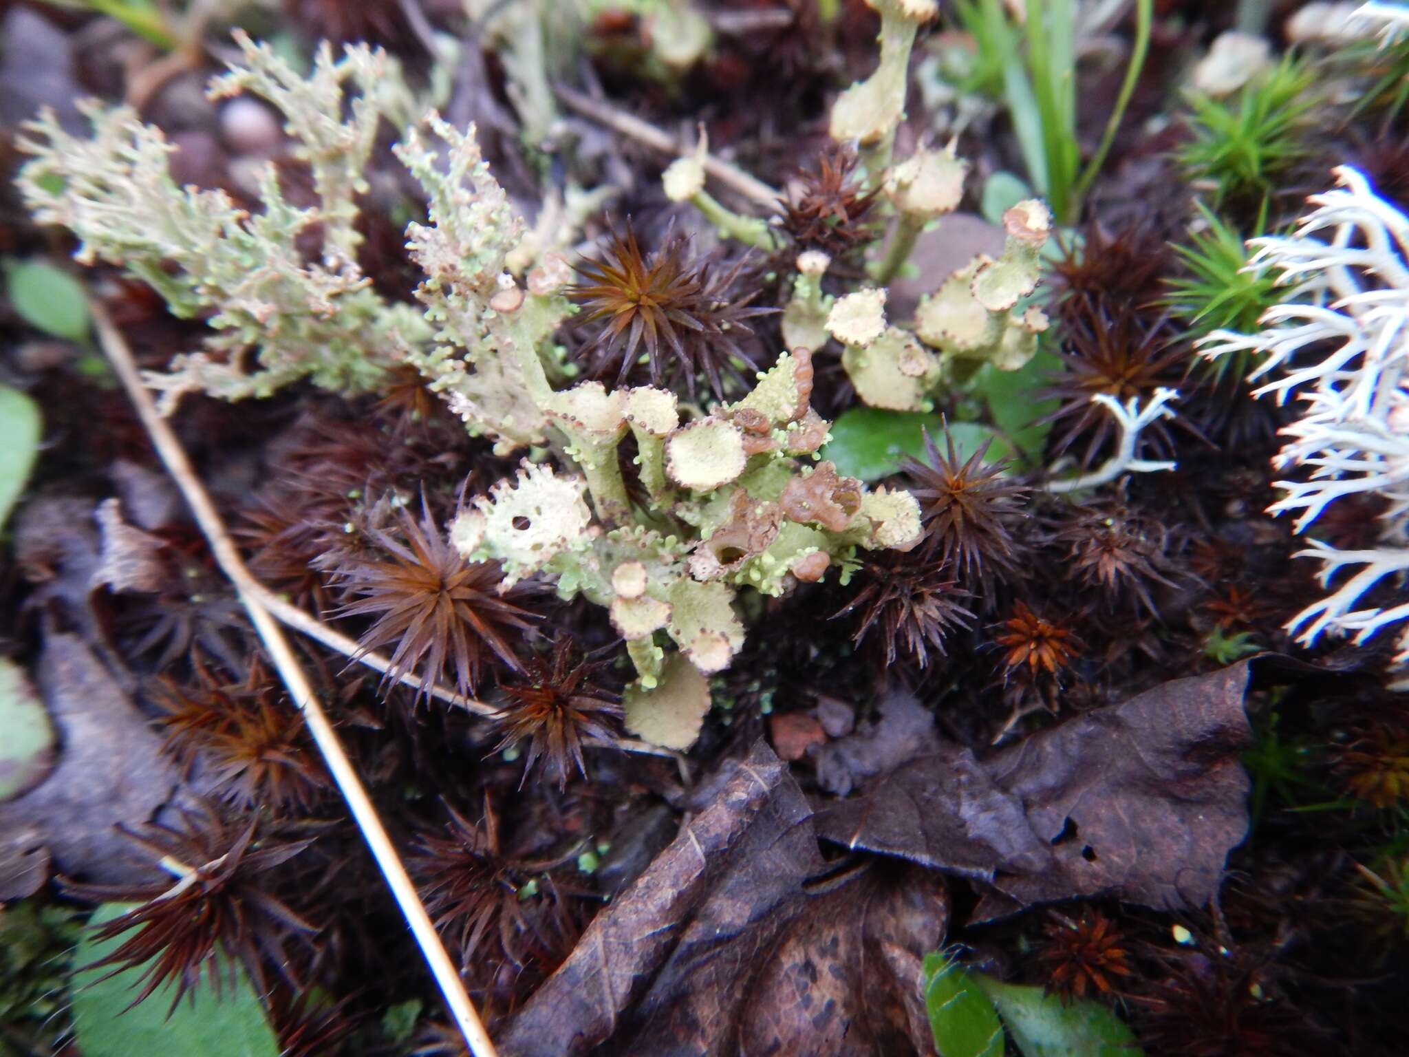
POLYGON ((1175 679, 979 762, 943 746, 817 816, 821 836, 978 878, 976 920, 1109 895, 1199 906, 1247 834, 1248 664, 1175 679))

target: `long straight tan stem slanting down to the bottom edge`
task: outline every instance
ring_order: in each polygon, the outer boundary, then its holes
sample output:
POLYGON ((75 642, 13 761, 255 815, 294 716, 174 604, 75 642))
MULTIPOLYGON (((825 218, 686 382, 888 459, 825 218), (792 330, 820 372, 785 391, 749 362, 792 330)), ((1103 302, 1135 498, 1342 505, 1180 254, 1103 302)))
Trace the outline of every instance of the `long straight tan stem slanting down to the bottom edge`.
POLYGON ((348 809, 352 812, 358 829, 362 830, 362 837, 366 840, 372 857, 380 867, 382 875, 392 889, 392 895, 402 908, 406 923, 410 926, 411 934, 416 937, 416 943, 420 946, 421 954, 426 957, 426 963, 430 965, 431 975, 435 977, 441 994, 445 995, 445 1003, 449 1006, 455 1023, 464 1033, 469 1051, 473 1057, 496 1057, 495 1044, 490 1041, 489 1033, 485 1032, 485 1026, 475 1012, 469 995, 465 992, 465 985, 461 982, 455 964, 449 960, 449 954, 445 953, 445 946, 441 943, 430 915, 426 913, 424 903, 421 903, 420 896, 416 894, 416 885, 411 884, 411 878, 406 872, 406 867, 402 864, 392 839, 382 826, 372 801, 368 799, 366 789, 362 788, 356 771, 352 769, 351 761, 348 761, 347 754, 342 751, 342 744, 338 741, 338 736, 328 722, 323 705, 314 695, 309 678, 303 674, 297 657, 294 657, 293 650, 289 647, 289 640, 285 638, 283 630, 263 603, 263 595, 268 592, 249 575, 244 561, 240 558, 240 552, 235 550, 234 541, 231 541, 230 534, 225 531, 216 505, 200 483, 200 478, 196 476, 196 471, 190 465, 185 448, 182 448, 180 441, 172 433, 166 420, 156 413, 156 406, 152 403, 147 386, 142 385, 137 364, 132 361, 132 352, 127 347, 123 334, 113 324, 113 320, 103 310, 101 304, 94 302, 92 309, 103 352, 113 364, 113 369, 117 372, 118 379, 121 379, 123 388, 127 389, 128 397, 137 407, 137 414, 142 420, 142 426, 147 427, 156 454, 166 464, 168 472, 176 481, 176 486, 190 506, 192 514, 196 517, 196 524, 200 526, 201 533, 204 533, 206 540, 210 543, 211 554, 240 593, 240 600, 249 613, 249 620, 255 626, 255 631, 259 633, 259 638, 263 641, 275 669, 283 679, 289 696, 302 709, 304 720, 309 724, 309 731, 323 753, 323 758, 328 764, 328 771, 342 791, 348 809))

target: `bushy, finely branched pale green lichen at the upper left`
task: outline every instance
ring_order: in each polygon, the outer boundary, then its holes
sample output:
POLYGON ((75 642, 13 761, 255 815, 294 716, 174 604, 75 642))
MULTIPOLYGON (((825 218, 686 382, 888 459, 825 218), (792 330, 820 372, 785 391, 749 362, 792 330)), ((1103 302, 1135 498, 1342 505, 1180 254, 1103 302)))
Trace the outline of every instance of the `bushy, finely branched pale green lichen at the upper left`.
POLYGON ((175 147, 130 107, 80 104, 90 137, 65 131, 45 111, 20 141, 34 155, 18 178, 25 203, 41 223, 77 235, 79 262, 125 268, 173 314, 209 319, 206 351, 147 375, 163 393, 163 412, 187 392, 238 400, 304 378, 340 392, 375 389, 393 351, 426 335, 414 310, 375 293, 354 259, 354 196, 365 190, 376 123, 389 111, 400 116, 409 96, 396 62, 365 45, 334 61, 324 47, 304 79, 271 49, 242 34, 237 41, 245 68, 211 90, 252 92, 283 113, 296 155, 309 162, 316 209, 289 204, 272 163, 259 178, 263 209, 255 214, 221 190, 179 187, 175 147), (306 261, 299 238, 316 223, 324 256, 306 261))

